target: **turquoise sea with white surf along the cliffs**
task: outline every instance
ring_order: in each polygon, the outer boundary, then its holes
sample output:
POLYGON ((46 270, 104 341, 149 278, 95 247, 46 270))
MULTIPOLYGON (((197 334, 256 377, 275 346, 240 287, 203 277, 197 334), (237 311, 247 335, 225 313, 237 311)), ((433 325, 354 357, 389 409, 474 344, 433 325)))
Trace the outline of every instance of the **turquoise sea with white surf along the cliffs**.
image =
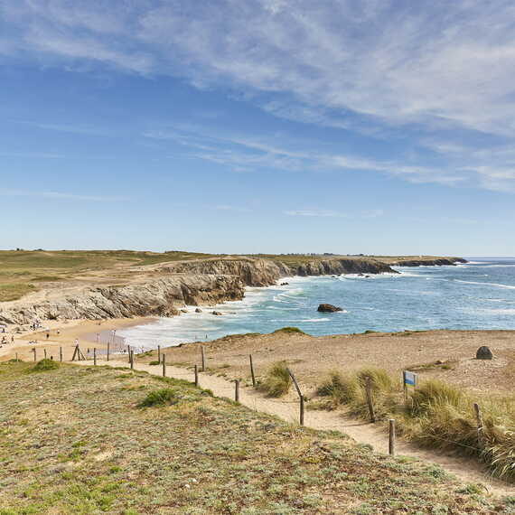
POLYGON ((396 267, 400 274, 283 279, 248 288, 244 300, 118 331, 143 348, 212 340, 286 325, 314 335, 406 329, 515 329, 515 258, 470 258, 456 267, 396 267), (343 311, 320 314, 318 304, 343 311))

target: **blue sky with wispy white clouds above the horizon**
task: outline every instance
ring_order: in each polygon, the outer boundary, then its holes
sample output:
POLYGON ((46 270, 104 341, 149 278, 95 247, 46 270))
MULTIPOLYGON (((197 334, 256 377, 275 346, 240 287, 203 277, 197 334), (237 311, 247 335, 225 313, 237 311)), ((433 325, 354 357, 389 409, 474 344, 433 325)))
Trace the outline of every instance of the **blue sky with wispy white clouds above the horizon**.
POLYGON ((0 248, 514 256, 515 4, 2 0, 0 248))

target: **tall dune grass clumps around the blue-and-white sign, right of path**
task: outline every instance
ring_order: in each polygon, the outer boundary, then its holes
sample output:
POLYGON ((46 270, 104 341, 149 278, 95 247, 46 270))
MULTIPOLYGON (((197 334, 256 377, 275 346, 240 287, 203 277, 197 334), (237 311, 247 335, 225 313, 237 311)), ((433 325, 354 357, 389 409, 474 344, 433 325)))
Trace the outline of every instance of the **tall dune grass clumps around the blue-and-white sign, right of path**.
POLYGON ((515 482, 515 398, 482 398, 445 382, 430 379, 407 401, 400 381, 384 370, 362 369, 342 375, 333 371, 318 388, 323 407, 345 405, 351 414, 368 419, 365 381, 370 378, 376 417, 396 418, 398 432, 419 444, 477 456, 498 477, 515 482), (482 410, 480 442, 473 403, 482 410))

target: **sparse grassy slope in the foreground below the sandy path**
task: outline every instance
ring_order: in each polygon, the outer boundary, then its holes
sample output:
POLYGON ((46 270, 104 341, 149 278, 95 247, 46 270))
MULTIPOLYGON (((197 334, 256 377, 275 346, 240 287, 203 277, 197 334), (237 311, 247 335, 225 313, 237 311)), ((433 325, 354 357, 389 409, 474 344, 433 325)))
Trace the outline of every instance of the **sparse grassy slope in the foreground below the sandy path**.
POLYGON ((0 365, 0 514, 493 513, 434 465, 142 372, 0 365))

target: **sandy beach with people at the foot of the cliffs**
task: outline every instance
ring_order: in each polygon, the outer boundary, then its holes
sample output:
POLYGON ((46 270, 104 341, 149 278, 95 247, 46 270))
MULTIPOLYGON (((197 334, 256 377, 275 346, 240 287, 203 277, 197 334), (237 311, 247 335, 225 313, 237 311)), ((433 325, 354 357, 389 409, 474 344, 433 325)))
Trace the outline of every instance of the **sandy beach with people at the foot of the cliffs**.
POLYGON ((42 359, 44 351, 47 357, 53 357, 54 360, 59 359, 59 350, 62 348, 63 360, 70 360, 75 347, 75 341, 80 343, 80 349, 84 352, 98 349, 98 353, 107 350, 109 342, 110 350, 120 351, 125 349, 123 338, 114 335, 113 330, 134 325, 143 325, 152 323, 155 318, 139 317, 139 318, 123 318, 111 319, 105 321, 98 320, 70 320, 70 321, 47 321, 44 328, 38 329, 36 332, 0 332, 0 341, 5 336, 7 343, 0 346, 0 361, 12 360, 18 356, 20 360, 33 360, 33 349, 36 349, 36 358, 42 359), (48 328, 48 331, 47 331, 48 328), (48 334, 48 338, 47 338, 48 334), (98 334, 98 340, 97 340, 98 334), (11 342, 14 337, 14 342, 11 342))

